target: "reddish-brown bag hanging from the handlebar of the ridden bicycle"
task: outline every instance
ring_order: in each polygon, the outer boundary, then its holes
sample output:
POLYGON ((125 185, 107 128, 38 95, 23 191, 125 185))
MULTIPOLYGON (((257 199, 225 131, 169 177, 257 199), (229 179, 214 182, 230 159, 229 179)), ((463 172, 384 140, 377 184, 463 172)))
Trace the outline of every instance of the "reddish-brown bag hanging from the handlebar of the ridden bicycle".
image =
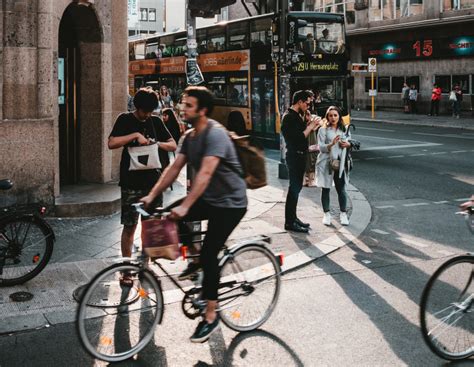
POLYGON ((179 257, 178 226, 168 218, 142 221, 143 252, 152 258, 176 260, 179 257))

